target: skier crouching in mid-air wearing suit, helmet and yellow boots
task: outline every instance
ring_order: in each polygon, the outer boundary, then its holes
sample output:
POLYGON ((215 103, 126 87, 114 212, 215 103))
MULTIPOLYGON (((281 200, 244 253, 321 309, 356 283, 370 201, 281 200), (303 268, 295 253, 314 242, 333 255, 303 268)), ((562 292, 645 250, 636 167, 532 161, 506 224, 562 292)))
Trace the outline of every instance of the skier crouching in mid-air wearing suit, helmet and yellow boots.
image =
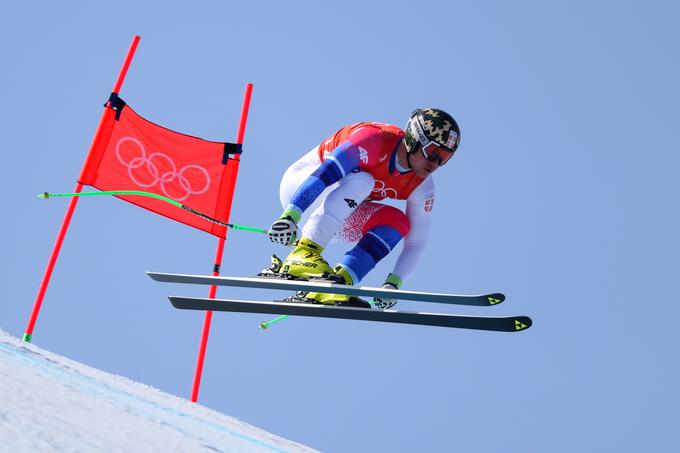
MULTIPOLYGON (((399 289, 422 254, 430 231, 435 189, 432 173, 446 164, 460 143, 460 129, 443 110, 417 109, 404 130, 377 122, 343 127, 286 170, 281 180, 283 213, 268 233, 272 242, 294 245, 271 271, 298 278, 357 284, 404 239, 404 247, 383 288, 399 289), (405 212, 383 203, 406 200, 405 212), (298 237, 302 214, 315 200, 298 237), (321 256, 335 237, 356 243, 336 266, 321 256)), ((354 297, 307 293, 309 302, 370 307, 354 297)), ((374 299, 387 309, 394 299, 374 299)))

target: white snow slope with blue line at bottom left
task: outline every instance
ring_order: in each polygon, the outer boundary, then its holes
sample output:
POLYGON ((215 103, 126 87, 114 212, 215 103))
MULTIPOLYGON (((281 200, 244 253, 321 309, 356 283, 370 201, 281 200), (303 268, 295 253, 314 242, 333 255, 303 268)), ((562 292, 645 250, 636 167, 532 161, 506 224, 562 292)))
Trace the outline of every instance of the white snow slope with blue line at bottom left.
POLYGON ((313 452, 0 330, 0 450, 313 452))

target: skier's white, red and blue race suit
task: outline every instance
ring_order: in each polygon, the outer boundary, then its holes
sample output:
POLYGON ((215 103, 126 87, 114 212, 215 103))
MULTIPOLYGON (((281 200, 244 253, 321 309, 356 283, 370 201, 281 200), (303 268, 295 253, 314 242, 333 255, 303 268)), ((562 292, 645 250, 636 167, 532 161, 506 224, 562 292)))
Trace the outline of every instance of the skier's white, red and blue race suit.
POLYGON ((432 176, 402 168, 404 132, 377 122, 343 127, 291 165, 281 181, 282 206, 302 215, 316 200, 302 236, 322 247, 335 237, 359 242, 341 265, 357 283, 403 238, 393 274, 406 279, 422 254, 434 206, 432 176), (323 194, 323 196, 322 196, 323 194), (406 201, 404 213, 376 201, 406 201))

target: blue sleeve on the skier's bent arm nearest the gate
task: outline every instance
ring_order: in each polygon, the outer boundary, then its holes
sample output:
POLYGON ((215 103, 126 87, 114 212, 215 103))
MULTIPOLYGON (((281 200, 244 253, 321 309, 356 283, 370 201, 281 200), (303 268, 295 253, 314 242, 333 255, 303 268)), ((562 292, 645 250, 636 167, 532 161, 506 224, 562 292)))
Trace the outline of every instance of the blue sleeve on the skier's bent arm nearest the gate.
POLYGON ((300 184, 286 209, 302 214, 326 187, 358 169, 359 164, 359 148, 346 140, 331 151, 319 168, 300 184))

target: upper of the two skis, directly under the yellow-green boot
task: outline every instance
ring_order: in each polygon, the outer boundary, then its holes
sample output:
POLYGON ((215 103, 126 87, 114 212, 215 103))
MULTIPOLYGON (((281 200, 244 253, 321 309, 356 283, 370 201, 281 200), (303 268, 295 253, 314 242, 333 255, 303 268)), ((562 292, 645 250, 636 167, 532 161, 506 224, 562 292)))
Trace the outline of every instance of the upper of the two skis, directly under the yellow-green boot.
POLYGON ((314 280, 285 280, 271 277, 221 277, 212 275, 167 274, 147 272, 158 282, 193 283, 198 285, 237 286, 242 288, 281 289, 287 291, 315 291, 320 293, 346 294, 350 296, 383 297, 400 300, 417 300, 441 304, 491 306, 505 300, 501 293, 481 295, 460 295, 404 291, 400 289, 372 288, 367 286, 345 286, 337 283, 314 280))

